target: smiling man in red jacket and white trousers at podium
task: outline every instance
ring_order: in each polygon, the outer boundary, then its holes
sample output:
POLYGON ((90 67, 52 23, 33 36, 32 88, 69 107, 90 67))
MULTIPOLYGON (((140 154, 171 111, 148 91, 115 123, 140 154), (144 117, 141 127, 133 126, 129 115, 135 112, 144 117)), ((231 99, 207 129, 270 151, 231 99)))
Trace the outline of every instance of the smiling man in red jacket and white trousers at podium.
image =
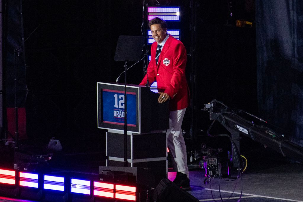
POLYGON ((167 33, 167 24, 161 18, 149 21, 155 42, 151 45, 151 61, 140 85, 157 81, 159 103, 169 100, 168 147, 176 162, 177 176, 173 181, 180 187, 189 187, 187 155, 181 125, 188 106, 188 85, 185 78, 186 49, 183 43, 167 33), (147 78, 148 75, 148 78, 147 78))

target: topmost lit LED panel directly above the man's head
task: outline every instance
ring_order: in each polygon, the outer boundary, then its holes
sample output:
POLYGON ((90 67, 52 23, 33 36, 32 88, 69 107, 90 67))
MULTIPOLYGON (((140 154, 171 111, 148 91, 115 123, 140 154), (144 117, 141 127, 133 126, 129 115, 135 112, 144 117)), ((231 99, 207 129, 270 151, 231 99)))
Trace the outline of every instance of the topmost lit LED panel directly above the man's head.
POLYGON ((155 17, 165 21, 180 21, 180 7, 147 7, 147 19, 155 17))

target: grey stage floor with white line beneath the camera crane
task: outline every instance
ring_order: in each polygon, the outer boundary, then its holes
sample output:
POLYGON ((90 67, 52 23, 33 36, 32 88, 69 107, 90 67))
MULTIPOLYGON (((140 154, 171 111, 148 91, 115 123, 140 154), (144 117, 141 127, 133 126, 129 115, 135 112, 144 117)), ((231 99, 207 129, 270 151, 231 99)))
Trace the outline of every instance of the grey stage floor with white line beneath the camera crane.
MULTIPOLYGON (((199 201, 221 201, 221 198, 226 201, 229 197, 228 201, 238 201, 240 196, 240 201, 247 202, 303 201, 302 176, 303 165, 286 164, 243 174, 242 179, 232 182, 214 178, 205 185, 204 171, 192 170, 190 171, 191 188, 185 190, 199 201)), ((0 197, 0 201, 30 202, 31 200, 0 197)))

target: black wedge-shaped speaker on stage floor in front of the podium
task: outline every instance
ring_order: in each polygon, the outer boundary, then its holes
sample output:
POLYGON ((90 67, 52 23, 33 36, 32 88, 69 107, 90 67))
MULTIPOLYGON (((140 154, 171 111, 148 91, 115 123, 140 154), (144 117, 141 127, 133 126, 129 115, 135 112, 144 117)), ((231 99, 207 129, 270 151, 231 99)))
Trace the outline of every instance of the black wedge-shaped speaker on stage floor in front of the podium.
POLYGON ((153 193, 155 202, 199 202, 198 199, 188 194, 175 183, 163 178, 153 193))

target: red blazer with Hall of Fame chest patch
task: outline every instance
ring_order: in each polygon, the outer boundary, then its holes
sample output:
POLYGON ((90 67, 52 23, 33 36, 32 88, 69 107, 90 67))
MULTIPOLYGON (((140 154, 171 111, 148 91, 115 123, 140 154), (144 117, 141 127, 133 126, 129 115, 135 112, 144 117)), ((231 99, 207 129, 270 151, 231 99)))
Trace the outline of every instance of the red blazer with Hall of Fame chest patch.
MULTIPOLYGON (((151 61, 148 64, 148 81, 157 81, 158 91, 169 95, 169 110, 175 111, 188 106, 188 84, 185 78, 186 49, 183 43, 171 35, 165 42, 156 64, 155 55, 158 43, 151 45, 151 61)), ((140 85, 145 85, 147 76, 140 85)))

